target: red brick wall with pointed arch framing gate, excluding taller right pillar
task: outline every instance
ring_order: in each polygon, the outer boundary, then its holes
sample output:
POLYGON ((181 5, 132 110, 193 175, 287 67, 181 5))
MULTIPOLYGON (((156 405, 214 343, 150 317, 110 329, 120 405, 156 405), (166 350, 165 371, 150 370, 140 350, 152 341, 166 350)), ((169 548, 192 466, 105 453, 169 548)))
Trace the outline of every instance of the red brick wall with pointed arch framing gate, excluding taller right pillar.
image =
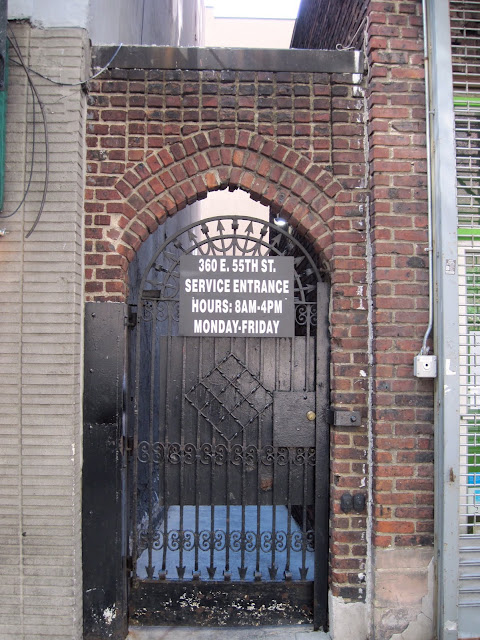
MULTIPOLYGON (((332 281, 332 401, 366 408, 365 152, 350 75, 112 70, 92 83, 87 125, 86 294, 123 300, 129 262, 167 216, 242 189, 290 219, 332 281)), ((335 593, 363 598, 365 427, 332 433, 335 593)))

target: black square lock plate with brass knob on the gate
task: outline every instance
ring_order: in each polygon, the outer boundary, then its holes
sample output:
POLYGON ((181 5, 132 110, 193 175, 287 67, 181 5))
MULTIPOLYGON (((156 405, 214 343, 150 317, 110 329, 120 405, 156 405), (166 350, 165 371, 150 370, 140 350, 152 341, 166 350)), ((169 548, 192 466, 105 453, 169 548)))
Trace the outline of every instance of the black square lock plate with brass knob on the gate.
POLYGON ((273 392, 273 446, 315 446, 315 393, 273 392))

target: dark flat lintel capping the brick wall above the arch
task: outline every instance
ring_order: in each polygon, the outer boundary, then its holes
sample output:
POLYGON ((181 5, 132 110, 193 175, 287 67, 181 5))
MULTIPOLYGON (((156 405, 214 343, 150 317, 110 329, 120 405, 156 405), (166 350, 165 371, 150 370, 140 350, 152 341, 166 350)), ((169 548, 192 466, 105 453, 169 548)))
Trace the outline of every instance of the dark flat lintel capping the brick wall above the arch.
POLYGON ((363 73, 361 51, 317 49, 228 49, 164 46, 98 46, 92 65, 114 69, 183 69, 192 71, 298 71, 363 73), (113 60, 112 60, 113 58, 113 60))

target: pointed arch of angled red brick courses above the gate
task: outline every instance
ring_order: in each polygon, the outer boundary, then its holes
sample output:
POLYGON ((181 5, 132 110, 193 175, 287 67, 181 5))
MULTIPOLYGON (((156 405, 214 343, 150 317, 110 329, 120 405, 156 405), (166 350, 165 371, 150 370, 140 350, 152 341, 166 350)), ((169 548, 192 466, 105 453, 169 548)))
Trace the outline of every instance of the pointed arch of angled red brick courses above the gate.
POLYGON ((115 187, 127 199, 118 247, 127 258, 123 245, 135 250, 135 235, 145 239, 166 216, 227 187, 243 189, 273 207, 317 250, 325 251, 332 242, 332 199, 342 190, 331 174, 294 151, 232 130, 197 134, 162 149, 129 170, 115 187))

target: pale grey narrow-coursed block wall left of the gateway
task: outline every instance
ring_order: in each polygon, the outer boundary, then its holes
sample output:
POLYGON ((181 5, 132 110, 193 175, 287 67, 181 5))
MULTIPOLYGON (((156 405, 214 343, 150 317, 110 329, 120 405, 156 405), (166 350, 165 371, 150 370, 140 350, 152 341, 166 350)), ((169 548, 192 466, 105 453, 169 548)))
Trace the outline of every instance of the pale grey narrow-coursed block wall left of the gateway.
MULTIPOLYGON (((12 23, 26 64, 60 82, 85 77, 82 29, 12 23)), ((11 33, 11 32, 9 32, 11 33)), ((32 95, 11 51, 5 205, 28 184, 32 95)), ((0 639, 76 640, 81 620, 82 209, 85 97, 32 75, 35 157, 24 204, 0 221, 0 639)))

